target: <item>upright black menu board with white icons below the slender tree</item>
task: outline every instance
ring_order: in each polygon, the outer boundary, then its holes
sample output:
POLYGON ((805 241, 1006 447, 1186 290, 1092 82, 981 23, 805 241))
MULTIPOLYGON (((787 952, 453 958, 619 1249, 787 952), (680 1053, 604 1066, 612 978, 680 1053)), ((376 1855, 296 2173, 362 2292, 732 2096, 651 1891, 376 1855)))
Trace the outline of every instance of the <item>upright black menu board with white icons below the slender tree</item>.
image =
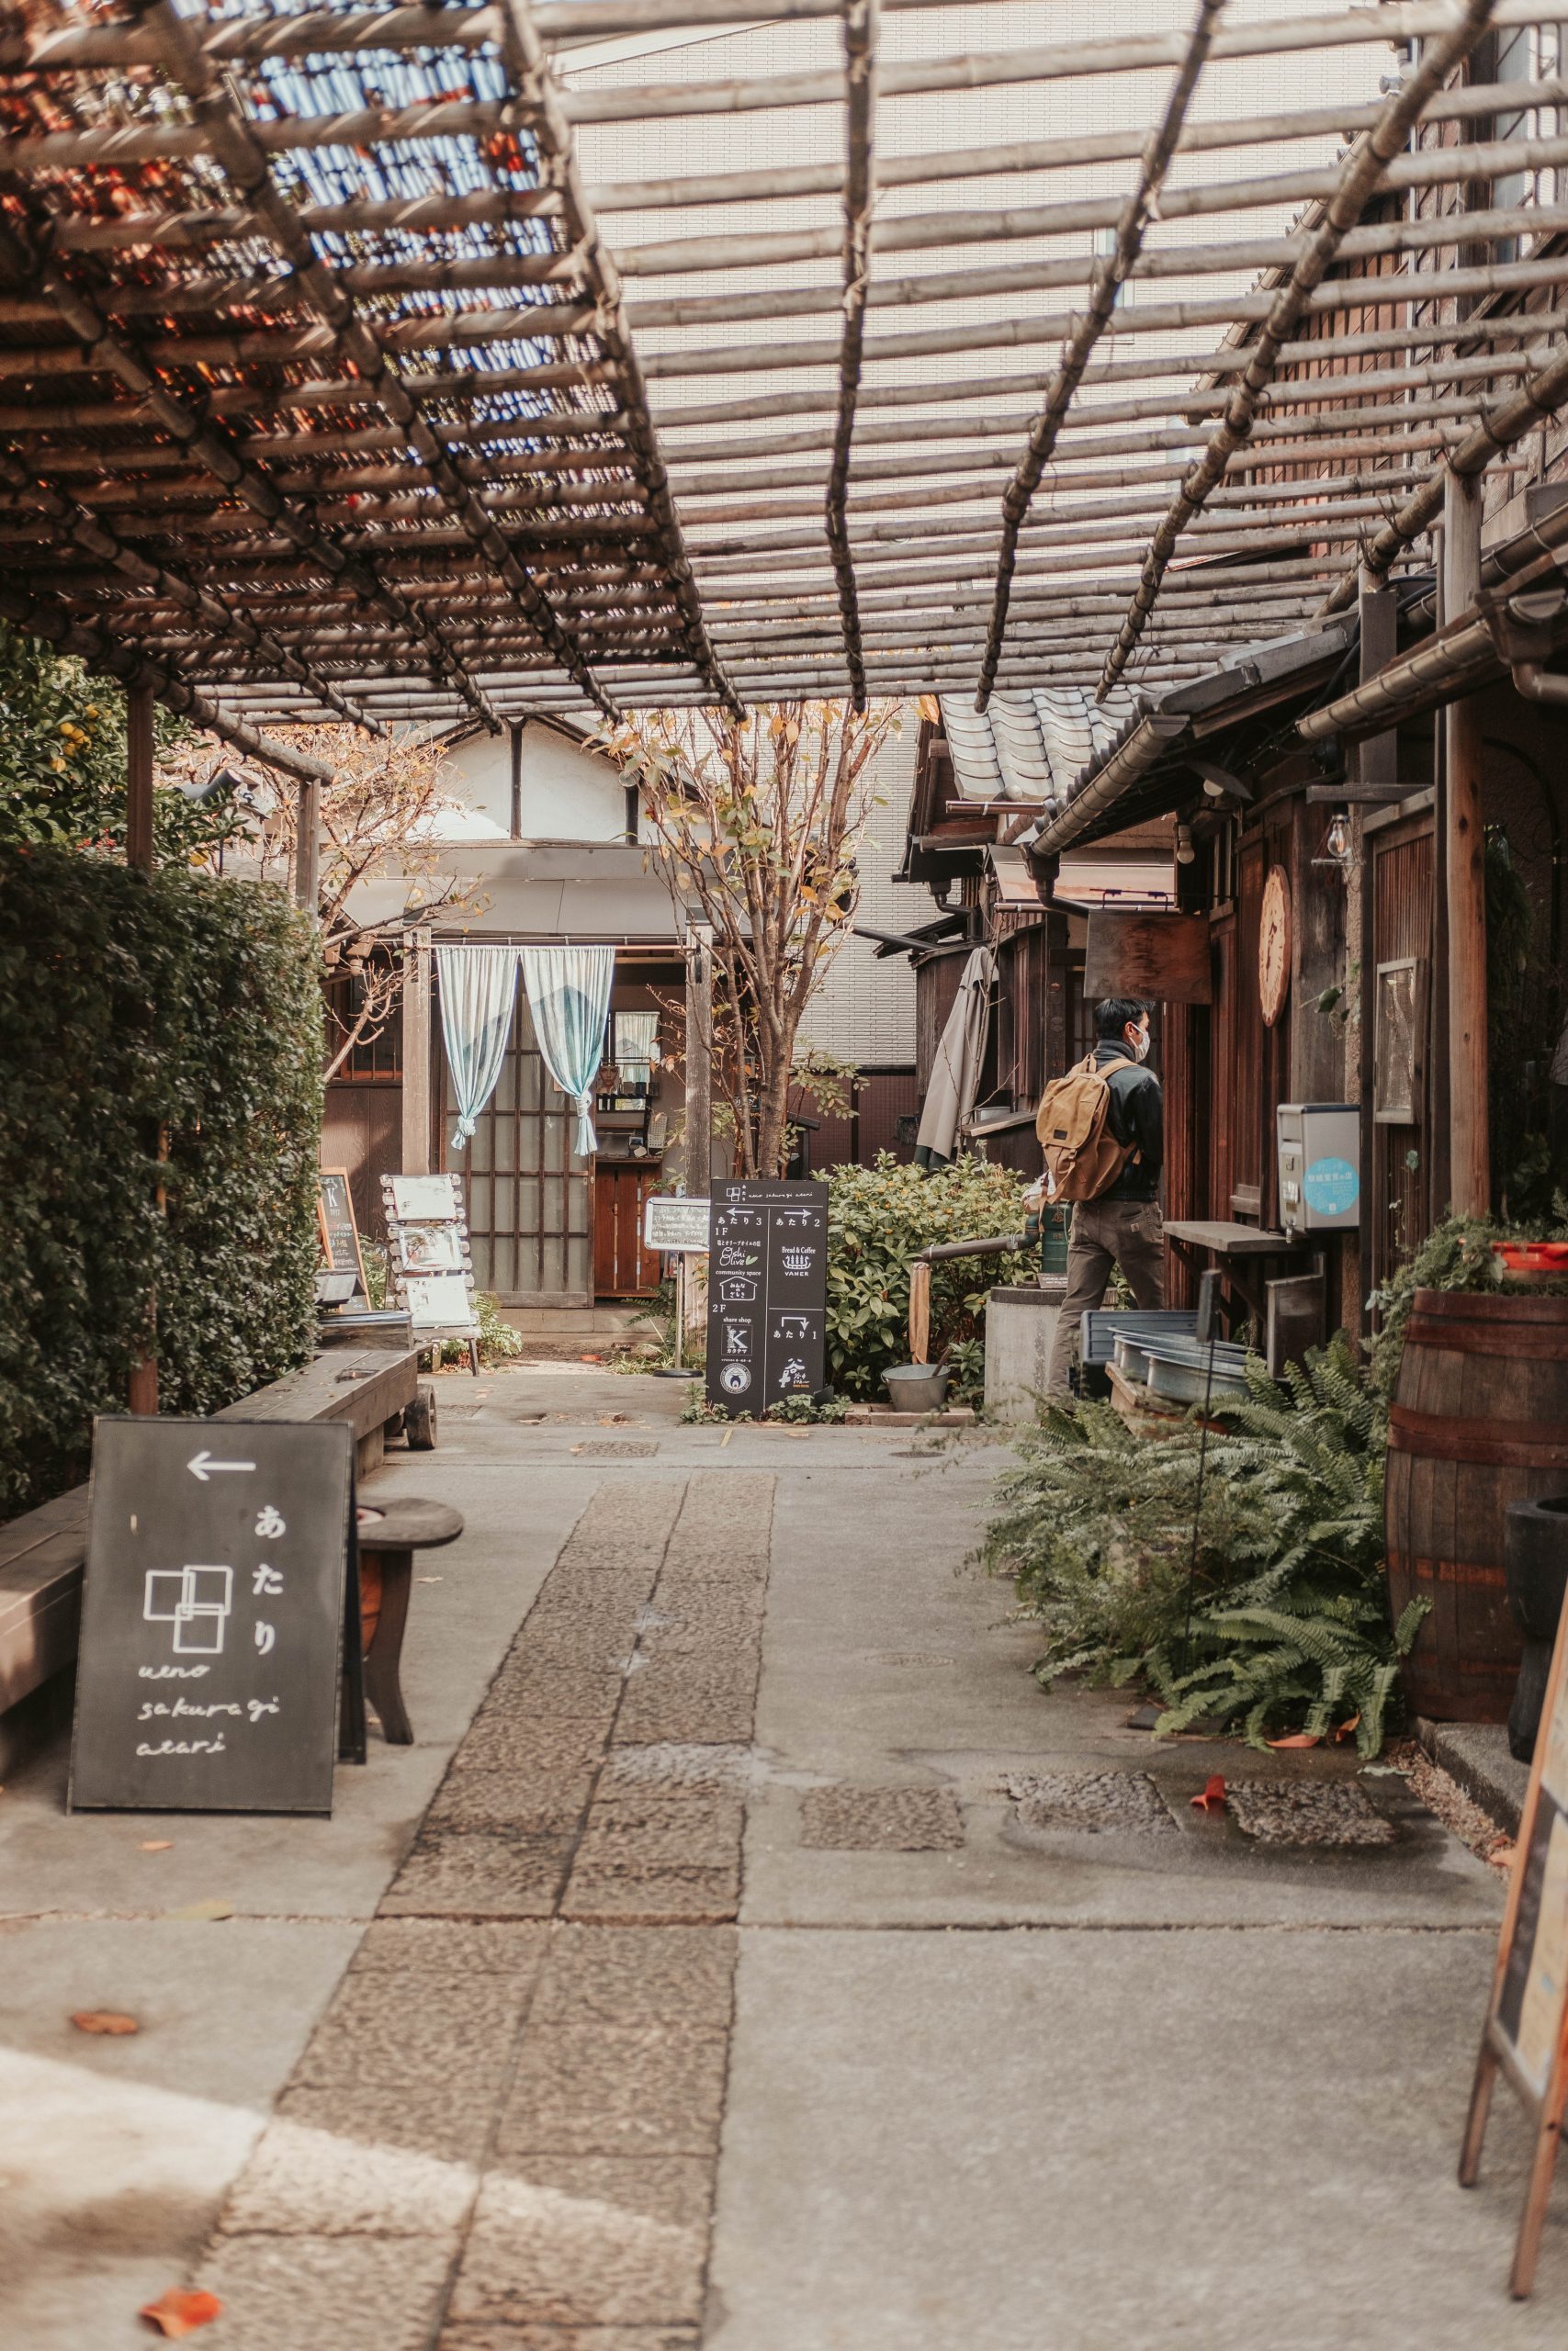
POLYGON ((825 1380, 827 1185, 715 1185, 708 1401, 738 1420, 825 1380))

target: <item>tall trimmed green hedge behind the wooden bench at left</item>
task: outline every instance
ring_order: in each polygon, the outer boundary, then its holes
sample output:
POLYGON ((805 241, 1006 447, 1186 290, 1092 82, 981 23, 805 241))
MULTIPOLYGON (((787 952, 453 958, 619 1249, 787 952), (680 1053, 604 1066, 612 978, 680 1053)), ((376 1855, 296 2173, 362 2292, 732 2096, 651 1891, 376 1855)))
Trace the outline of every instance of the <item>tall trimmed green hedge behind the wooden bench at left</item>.
POLYGON ((310 1352, 320 1070, 280 891, 0 849, 0 1516, 85 1476, 148 1312, 169 1413, 310 1352))

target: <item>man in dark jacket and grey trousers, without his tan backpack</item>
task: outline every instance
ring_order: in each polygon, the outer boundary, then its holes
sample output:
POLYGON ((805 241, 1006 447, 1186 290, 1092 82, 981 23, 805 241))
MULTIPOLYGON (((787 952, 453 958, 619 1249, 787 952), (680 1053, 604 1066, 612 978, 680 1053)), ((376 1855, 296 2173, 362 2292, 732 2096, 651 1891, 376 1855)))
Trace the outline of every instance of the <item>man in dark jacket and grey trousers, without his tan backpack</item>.
POLYGON ((1079 1321, 1103 1302, 1112 1265, 1121 1267, 1140 1307, 1166 1302, 1166 1239, 1159 1213, 1166 1114, 1159 1079, 1145 1067, 1150 1006, 1135 997, 1107 997, 1095 1013, 1095 1032, 1091 1063, 1105 1074, 1110 1093, 1105 1131, 1124 1159, 1103 1192, 1074 1201, 1072 1208, 1067 1295, 1051 1349, 1048 1396, 1067 1394, 1079 1321))

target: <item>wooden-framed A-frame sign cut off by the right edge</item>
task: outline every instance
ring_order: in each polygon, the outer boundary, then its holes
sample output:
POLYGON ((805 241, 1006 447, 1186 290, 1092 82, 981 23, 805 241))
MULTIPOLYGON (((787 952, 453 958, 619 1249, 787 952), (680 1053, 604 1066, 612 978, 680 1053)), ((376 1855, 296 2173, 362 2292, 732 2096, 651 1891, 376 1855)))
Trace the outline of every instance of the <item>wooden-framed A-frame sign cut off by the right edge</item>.
POLYGON ((1469 2092, 1460 2186, 1481 2177, 1481 2142, 1497 2074, 1507 2074, 1530 2116, 1528 2172, 1509 2292, 1523 2299, 1552 2193, 1556 2142, 1568 2104, 1568 1610, 1556 1629, 1552 1679, 1535 1737, 1530 1787, 1519 1820, 1509 1902, 1497 1940, 1493 1996, 1469 2092))

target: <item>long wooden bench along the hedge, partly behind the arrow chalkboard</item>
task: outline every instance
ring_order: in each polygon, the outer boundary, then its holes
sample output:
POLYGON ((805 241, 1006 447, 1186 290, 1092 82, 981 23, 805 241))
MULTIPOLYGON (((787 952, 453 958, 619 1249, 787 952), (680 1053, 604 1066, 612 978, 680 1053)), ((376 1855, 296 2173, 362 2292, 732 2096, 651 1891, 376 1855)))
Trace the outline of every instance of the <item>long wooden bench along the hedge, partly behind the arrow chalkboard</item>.
MULTIPOLYGON (((418 1420, 416 1347, 329 1347, 301 1371, 230 1404, 219 1420, 346 1420, 360 1476, 381 1460, 388 1427, 418 1420)), ((421 1427, 411 1441, 421 1441, 421 1427)), ((435 1439, 428 1415, 425 1444, 435 1439)), ((5 1716, 75 1662, 87 1559, 87 1486, 0 1526, 0 1747, 5 1716)), ((14 1730, 14 1726, 12 1726, 14 1730)))

